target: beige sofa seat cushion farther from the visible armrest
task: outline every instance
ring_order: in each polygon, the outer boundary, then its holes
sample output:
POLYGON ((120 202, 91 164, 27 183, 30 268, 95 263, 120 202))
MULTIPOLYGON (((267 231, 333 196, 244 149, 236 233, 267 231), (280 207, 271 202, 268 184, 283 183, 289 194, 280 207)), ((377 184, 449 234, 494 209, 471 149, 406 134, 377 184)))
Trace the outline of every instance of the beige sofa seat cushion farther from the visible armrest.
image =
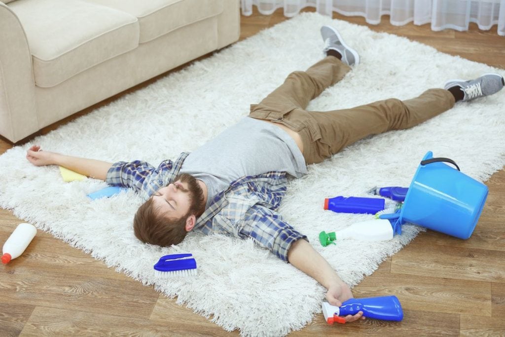
POLYGON ((84 1, 108 6, 137 17, 140 24, 140 43, 223 12, 223 0, 84 1))

